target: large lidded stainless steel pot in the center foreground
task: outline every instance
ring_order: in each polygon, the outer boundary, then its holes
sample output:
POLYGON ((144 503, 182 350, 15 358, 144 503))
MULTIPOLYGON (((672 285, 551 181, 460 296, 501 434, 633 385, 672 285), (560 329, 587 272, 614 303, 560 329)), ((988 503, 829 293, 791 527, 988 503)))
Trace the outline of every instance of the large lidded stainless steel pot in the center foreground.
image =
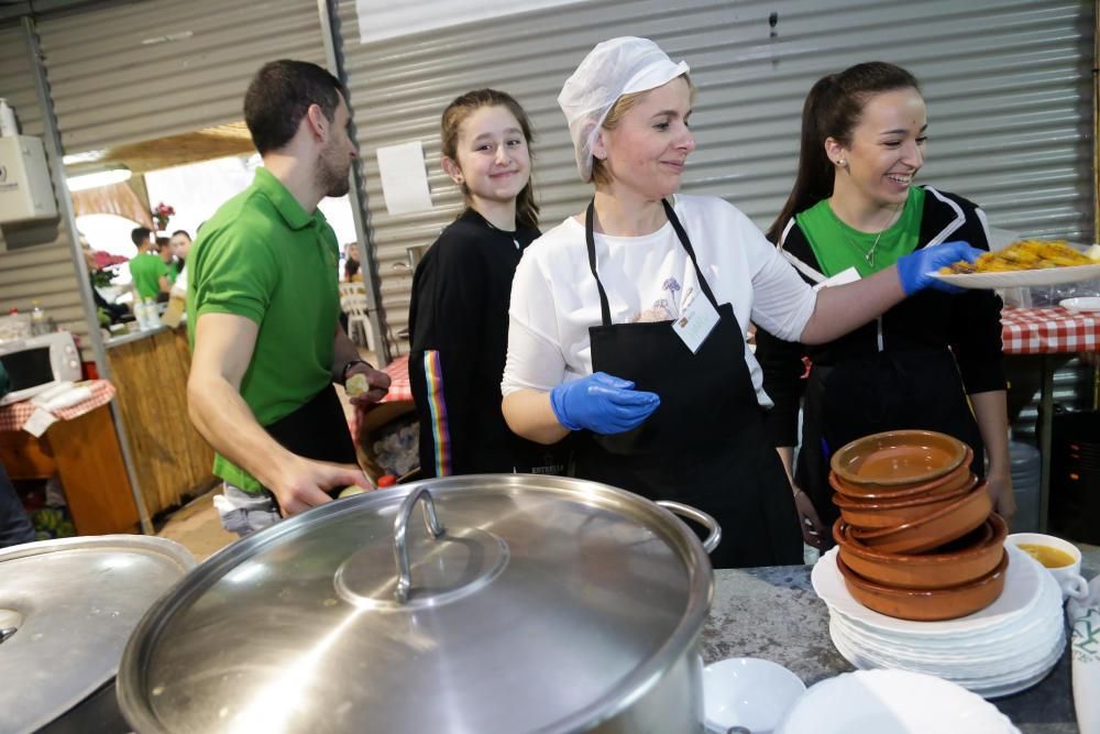
POLYGON ((141 734, 701 733, 712 576, 607 485, 417 482, 208 559, 138 625, 119 702, 141 734))

